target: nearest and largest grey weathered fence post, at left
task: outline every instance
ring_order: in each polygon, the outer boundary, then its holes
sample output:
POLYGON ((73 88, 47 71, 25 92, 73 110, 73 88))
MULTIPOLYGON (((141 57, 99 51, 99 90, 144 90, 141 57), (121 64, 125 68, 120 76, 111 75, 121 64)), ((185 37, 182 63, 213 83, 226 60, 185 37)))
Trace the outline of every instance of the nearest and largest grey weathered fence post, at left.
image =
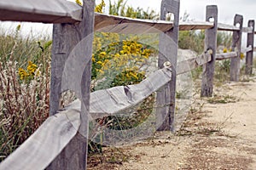
MULTIPOLYGON (((61 91, 61 78, 69 54, 73 48, 86 37, 88 47, 85 54, 79 54, 79 58, 91 56, 92 40, 94 31, 94 7, 95 1, 84 0, 82 21, 70 24, 55 24, 53 31, 53 50, 51 61, 51 87, 50 87, 50 116, 55 115, 59 109, 59 100, 61 91)), ((67 63, 68 65, 68 63, 67 63)), ((85 63, 84 63, 85 65, 85 63)), ((73 65, 75 66, 75 65, 73 65)), ((87 133, 88 133, 88 115, 90 106, 90 70, 91 62, 84 69, 81 82, 82 105, 81 107, 81 125, 79 133, 67 144, 61 154, 51 162, 48 170, 53 169, 86 169, 87 158, 87 133)), ((76 77, 76 75, 73 75, 76 77)), ((79 88, 79 87, 77 87, 79 88)))

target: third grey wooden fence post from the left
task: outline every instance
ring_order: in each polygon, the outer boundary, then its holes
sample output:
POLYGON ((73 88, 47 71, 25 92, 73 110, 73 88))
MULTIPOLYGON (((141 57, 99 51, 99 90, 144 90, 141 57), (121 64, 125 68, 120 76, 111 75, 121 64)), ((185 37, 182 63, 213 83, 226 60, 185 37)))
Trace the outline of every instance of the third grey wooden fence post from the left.
POLYGON ((203 65, 201 97, 211 97, 213 92, 213 77, 217 50, 218 33, 218 7, 216 5, 207 6, 207 21, 214 20, 212 28, 206 30, 205 51, 212 50, 212 60, 203 65))

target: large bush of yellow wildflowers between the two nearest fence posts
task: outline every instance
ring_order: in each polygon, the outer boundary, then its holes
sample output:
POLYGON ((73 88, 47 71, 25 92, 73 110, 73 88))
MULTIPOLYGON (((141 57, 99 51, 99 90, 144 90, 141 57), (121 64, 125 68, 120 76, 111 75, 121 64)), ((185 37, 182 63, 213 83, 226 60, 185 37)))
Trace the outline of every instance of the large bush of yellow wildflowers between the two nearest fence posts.
POLYGON ((140 68, 153 53, 138 37, 124 38, 113 33, 96 33, 92 56, 92 80, 102 80, 98 88, 109 88, 141 82, 145 72, 140 68), (125 40, 120 40, 125 39, 125 40))

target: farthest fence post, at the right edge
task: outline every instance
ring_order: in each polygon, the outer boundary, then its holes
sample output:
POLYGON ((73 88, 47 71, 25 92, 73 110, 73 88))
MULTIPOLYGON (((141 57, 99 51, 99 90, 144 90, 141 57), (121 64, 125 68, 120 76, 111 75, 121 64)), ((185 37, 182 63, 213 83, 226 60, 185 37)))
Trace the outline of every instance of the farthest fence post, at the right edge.
POLYGON ((253 31, 251 33, 247 33, 247 47, 252 46, 252 50, 247 52, 246 74, 247 75, 252 75, 253 74, 254 29, 255 29, 254 20, 249 20, 248 21, 248 27, 253 28, 253 31))

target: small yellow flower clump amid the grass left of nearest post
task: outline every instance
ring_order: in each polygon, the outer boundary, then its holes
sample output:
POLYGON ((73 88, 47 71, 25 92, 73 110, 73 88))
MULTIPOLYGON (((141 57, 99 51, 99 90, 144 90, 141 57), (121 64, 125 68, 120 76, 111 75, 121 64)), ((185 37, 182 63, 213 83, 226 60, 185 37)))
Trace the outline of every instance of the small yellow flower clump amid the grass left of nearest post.
POLYGON ((38 65, 33 64, 32 61, 28 61, 28 65, 26 66, 26 70, 23 68, 19 68, 19 76, 20 80, 31 80, 35 75, 38 76, 39 72, 38 65))

